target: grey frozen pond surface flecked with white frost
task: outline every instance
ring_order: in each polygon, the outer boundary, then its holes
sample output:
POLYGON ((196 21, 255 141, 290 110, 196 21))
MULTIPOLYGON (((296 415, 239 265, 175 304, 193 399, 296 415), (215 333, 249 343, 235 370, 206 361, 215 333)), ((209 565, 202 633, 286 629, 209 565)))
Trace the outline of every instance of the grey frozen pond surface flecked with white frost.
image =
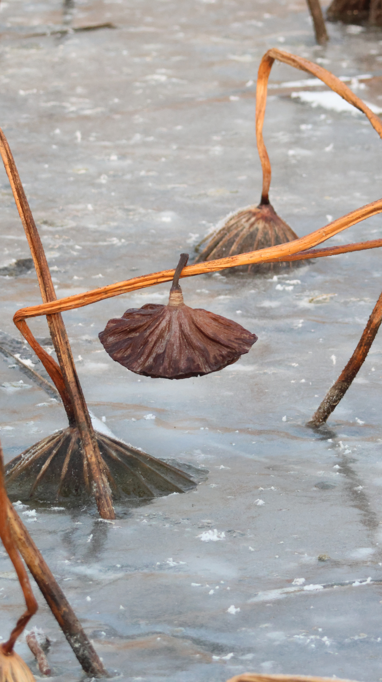
MULTIPOLYGON (((253 81, 266 49, 319 61, 382 107, 381 31, 329 25, 323 50, 301 0, 85 0, 66 13, 56 0, 11 0, 0 24, 0 124, 58 297, 174 267, 225 214, 259 199, 253 81), (104 23, 114 28, 65 33, 104 23)), ((306 78, 274 66, 264 129, 271 201, 299 236, 380 198, 382 178, 368 121, 306 78)), ((3 170, 0 183, 3 267, 30 254, 3 170)), ((381 232, 376 216, 332 241, 381 232)), ((168 285, 65 313, 95 417, 154 456, 209 471, 195 492, 118 508, 114 524, 93 508, 20 509, 122 679, 210 682, 256 670, 381 680, 380 337, 328 428, 304 426, 381 292, 380 259, 321 259, 278 280, 183 280, 189 305, 259 336, 236 365, 199 379, 138 379, 97 338, 127 308, 166 302, 168 285)), ((16 336, 14 312, 39 302, 34 271, 1 278, 1 330, 16 336)), ((48 336, 42 318, 31 328, 48 336)), ((61 405, 10 365, 1 356, 6 461, 66 424, 61 405)), ((54 640, 56 679, 80 679, 35 593, 32 623, 54 640)), ((24 607, 4 554, 0 599, 5 638, 24 607)), ((35 670, 26 644, 16 648, 35 670)))

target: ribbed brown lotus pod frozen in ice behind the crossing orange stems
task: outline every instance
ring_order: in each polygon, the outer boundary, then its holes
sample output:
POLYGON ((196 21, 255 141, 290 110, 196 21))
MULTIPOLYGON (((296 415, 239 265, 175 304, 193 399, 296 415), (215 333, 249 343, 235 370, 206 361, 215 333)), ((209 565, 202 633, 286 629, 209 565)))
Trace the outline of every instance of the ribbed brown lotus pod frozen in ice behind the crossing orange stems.
MULTIPOLYGON (((298 239, 295 232, 277 215, 270 203, 249 206, 229 216, 222 227, 208 237, 208 243, 195 263, 257 251, 298 239)), ((200 245, 204 243, 203 240, 200 245)), ((197 248, 198 250, 198 248, 197 248)), ((300 265, 300 263, 299 263, 300 265)), ((232 267, 229 271, 264 273, 296 267, 296 263, 251 263, 232 267)))

